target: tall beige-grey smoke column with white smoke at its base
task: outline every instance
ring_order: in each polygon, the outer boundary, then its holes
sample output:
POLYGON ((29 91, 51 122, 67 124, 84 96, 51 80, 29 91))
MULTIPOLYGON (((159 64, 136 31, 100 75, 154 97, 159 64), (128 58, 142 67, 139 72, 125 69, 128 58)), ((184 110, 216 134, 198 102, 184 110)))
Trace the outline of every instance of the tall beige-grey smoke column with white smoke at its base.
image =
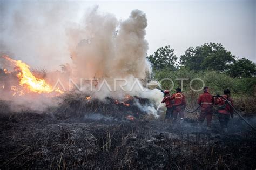
MULTIPOLYGON (((94 97, 122 98, 124 94, 130 94, 149 98, 152 103, 159 104, 162 97, 160 90, 146 89, 138 81, 138 78, 147 78, 151 72, 146 59, 146 26, 146 15, 140 10, 133 10, 128 19, 118 22, 113 15, 102 15, 98 8, 94 8, 87 13, 82 25, 77 28, 73 26, 68 31, 75 77, 96 77, 106 80, 109 85, 100 86, 102 88, 99 91, 93 92, 94 97), (123 89, 120 85, 124 82, 116 81, 114 84, 113 79, 116 78, 125 79, 123 89)), ((100 80, 99 84, 102 84, 100 80)), ((154 105, 140 108, 147 108, 150 113, 156 114, 154 105)))

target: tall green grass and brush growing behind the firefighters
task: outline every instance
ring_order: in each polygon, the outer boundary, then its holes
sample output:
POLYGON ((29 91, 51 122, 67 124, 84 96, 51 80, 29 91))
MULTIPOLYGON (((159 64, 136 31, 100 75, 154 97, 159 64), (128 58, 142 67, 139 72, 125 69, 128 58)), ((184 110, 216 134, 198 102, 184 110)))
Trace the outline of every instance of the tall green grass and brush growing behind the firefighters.
MULTIPOLYGON (((194 72, 193 70, 182 68, 176 71, 170 71, 168 69, 154 71, 154 78, 161 82, 163 89, 171 89, 174 84, 171 93, 175 92, 174 89, 176 87, 181 86, 181 81, 176 79, 188 79, 183 81, 183 92, 186 95, 187 103, 190 104, 196 103, 199 94, 202 93, 202 91, 195 92, 190 88, 191 80, 199 78, 204 81, 205 86, 210 87, 210 92, 212 94, 223 94, 224 89, 230 89, 234 105, 238 110, 248 114, 253 114, 256 110, 256 77, 232 78, 225 73, 215 71, 194 72), (161 81, 165 78, 172 79, 173 84, 169 80, 161 81)), ((194 80, 191 83, 191 86, 193 89, 198 90, 203 87, 203 83, 199 80, 194 80)))

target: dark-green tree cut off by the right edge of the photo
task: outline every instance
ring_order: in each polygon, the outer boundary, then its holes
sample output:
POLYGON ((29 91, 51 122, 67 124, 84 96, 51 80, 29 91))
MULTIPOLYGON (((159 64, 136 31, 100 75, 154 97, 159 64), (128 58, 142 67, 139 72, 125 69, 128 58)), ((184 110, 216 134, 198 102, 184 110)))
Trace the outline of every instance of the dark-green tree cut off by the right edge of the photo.
POLYGON ((246 58, 238 59, 230 66, 228 73, 231 77, 252 77, 256 75, 256 65, 246 58))

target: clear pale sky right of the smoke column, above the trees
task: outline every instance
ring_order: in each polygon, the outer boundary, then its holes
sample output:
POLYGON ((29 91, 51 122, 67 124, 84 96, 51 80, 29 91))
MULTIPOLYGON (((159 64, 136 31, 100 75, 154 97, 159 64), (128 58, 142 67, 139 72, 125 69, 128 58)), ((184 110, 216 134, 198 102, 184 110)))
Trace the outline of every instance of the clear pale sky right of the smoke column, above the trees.
POLYGON ((147 15, 149 54, 170 45, 176 56, 190 46, 221 43, 233 55, 256 62, 256 1, 101 2, 100 8, 127 18, 133 9, 147 15))

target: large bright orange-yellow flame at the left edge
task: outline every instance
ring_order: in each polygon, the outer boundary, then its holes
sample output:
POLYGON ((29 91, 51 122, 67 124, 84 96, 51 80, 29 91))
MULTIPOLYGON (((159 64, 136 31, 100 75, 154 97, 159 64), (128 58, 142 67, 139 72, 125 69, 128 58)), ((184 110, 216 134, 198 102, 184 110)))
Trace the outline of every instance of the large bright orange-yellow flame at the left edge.
MULTIPOLYGON (((8 56, 3 56, 6 60, 14 64, 16 67, 19 68, 19 73, 17 77, 19 78, 19 85, 22 87, 26 87, 32 92, 36 93, 51 93, 51 92, 58 92, 63 93, 63 91, 59 89, 53 89, 53 87, 45 82, 44 79, 36 78, 30 72, 30 66, 26 63, 23 63, 21 60, 13 60, 8 56)), ((12 87, 13 91, 18 91, 16 87, 12 87)), ((16 93, 15 93, 16 94, 16 93)), ((22 93, 23 94, 23 93, 22 93)), ((19 95, 22 95, 19 94, 19 95)))

